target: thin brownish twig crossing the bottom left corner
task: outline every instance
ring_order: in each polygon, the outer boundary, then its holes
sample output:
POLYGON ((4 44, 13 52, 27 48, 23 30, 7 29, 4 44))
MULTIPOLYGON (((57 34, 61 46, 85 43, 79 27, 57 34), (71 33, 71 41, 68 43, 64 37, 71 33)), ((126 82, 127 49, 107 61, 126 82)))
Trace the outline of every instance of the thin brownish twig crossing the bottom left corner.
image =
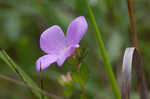
POLYGON ((44 91, 44 90, 41 90, 40 88, 32 87, 32 86, 30 86, 30 85, 27 85, 27 84, 24 83, 24 82, 17 81, 17 80, 15 80, 15 79, 11 78, 11 77, 6 76, 6 75, 0 74, 0 78, 1 78, 1 79, 5 79, 5 80, 7 80, 7 81, 10 81, 10 82, 12 82, 12 83, 21 85, 21 86, 25 86, 25 87, 30 88, 30 89, 37 90, 38 92, 42 93, 43 95, 49 96, 49 97, 51 97, 51 98, 54 98, 54 99, 62 99, 62 98, 60 98, 60 97, 58 97, 58 96, 56 96, 56 95, 54 95, 54 94, 51 94, 51 93, 49 93, 49 92, 47 92, 47 91, 44 91))

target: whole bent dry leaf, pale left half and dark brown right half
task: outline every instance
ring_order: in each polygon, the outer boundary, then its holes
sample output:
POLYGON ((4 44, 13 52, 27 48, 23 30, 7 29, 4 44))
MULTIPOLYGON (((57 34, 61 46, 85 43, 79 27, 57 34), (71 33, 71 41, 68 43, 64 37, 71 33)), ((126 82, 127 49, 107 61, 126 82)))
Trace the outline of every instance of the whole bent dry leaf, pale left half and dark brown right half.
POLYGON ((136 78, 138 87, 140 89, 141 99, 148 99, 148 91, 146 87, 146 81, 144 78, 144 72, 142 71, 142 60, 140 54, 135 47, 126 48, 121 75, 121 95, 122 99, 130 99, 130 86, 132 77, 132 64, 135 64, 136 78))

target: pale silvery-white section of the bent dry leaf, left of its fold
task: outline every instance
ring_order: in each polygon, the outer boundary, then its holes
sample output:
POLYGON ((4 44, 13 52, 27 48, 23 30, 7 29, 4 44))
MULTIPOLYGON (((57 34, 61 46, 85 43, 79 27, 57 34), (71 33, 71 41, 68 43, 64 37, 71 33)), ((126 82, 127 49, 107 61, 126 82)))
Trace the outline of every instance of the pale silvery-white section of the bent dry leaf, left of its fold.
POLYGON ((131 82, 132 59, 134 50, 135 48, 127 48, 125 50, 123 58, 122 76, 121 76, 122 99, 129 99, 130 97, 130 82, 131 82))

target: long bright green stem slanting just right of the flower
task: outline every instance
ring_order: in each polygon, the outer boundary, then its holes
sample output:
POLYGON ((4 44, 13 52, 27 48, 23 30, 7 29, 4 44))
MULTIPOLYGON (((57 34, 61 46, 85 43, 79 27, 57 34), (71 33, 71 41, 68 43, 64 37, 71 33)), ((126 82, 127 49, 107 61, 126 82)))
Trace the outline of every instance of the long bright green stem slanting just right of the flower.
POLYGON ((96 33, 96 37, 97 37, 97 40, 98 40, 100 52, 102 54, 102 58, 103 58, 103 61, 104 61, 105 67, 106 67, 106 71, 107 71, 107 74, 108 74, 108 77, 109 77, 109 81, 111 83, 112 90, 114 92, 114 96, 115 96, 116 99, 121 99, 120 90, 119 90, 119 88, 117 86, 117 81, 115 79, 115 76, 114 76, 112 67, 110 65, 109 59, 108 59, 108 57, 106 55, 106 50, 104 48, 104 43, 102 41, 100 30, 98 29, 98 26, 96 24, 96 20, 95 20, 94 14, 92 12, 92 9, 90 8, 90 6, 88 4, 88 0, 86 0, 86 4, 87 4, 87 7, 88 7, 88 11, 89 11, 89 15, 90 15, 90 19, 91 19, 93 28, 94 28, 95 33, 96 33))

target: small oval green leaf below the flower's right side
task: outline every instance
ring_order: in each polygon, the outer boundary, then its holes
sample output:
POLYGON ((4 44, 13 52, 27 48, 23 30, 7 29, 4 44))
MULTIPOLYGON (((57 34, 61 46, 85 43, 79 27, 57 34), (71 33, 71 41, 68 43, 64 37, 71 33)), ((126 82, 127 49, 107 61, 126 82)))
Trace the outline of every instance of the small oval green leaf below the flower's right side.
POLYGON ((88 72, 88 67, 86 66, 85 63, 82 63, 80 65, 80 78, 81 78, 81 83, 82 85, 85 85, 86 82, 88 81, 89 78, 89 72, 88 72))

